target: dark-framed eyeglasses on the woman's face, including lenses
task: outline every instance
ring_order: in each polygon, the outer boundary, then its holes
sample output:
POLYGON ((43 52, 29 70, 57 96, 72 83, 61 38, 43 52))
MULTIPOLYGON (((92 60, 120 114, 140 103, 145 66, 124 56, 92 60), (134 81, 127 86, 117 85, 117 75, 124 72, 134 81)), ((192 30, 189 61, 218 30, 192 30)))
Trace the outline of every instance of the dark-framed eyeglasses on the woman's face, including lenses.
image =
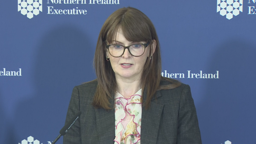
POLYGON ((109 54, 113 57, 122 56, 126 48, 131 55, 138 57, 144 54, 148 45, 149 42, 147 44, 133 44, 127 47, 123 45, 106 45, 106 48, 108 49, 109 54))

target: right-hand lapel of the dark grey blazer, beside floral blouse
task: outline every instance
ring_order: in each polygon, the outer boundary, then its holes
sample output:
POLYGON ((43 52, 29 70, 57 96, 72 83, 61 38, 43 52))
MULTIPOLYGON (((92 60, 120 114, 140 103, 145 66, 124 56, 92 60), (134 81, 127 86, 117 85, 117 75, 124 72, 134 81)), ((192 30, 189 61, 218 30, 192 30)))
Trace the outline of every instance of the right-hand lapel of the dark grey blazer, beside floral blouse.
MULTIPOLYGON (((156 92, 156 97, 160 97, 161 92, 156 92)), ((143 93, 143 101, 146 101, 147 92, 144 90, 143 93)), ((164 105, 157 104, 153 101, 155 98, 152 98, 150 108, 145 109, 142 107, 142 125, 141 125, 141 143, 142 144, 156 144, 157 136, 158 136, 158 129, 160 124, 160 119, 162 115, 162 111, 164 105)))

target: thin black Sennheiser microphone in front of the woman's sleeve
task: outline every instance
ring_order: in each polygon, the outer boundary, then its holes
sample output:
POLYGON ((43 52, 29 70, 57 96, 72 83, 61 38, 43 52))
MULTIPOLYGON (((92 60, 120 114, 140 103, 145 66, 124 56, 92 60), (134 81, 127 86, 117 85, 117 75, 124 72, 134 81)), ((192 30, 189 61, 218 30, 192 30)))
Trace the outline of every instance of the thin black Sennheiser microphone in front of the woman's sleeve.
POLYGON ((57 140, 59 140, 59 138, 63 135, 65 135, 67 133, 67 131, 73 126, 73 124, 76 122, 76 120, 80 117, 81 115, 81 111, 78 111, 68 122, 66 125, 63 126, 63 128, 59 131, 59 135, 58 137, 51 143, 51 144, 55 144, 57 142, 57 140))

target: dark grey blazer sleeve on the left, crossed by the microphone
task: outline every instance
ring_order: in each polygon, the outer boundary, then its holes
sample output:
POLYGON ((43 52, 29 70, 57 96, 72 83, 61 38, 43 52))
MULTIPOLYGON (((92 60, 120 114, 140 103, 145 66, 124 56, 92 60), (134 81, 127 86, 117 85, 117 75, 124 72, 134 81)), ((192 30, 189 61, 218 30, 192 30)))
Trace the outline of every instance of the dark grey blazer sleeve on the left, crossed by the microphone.
MULTIPOLYGON (((67 116, 65 124, 80 110, 79 106, 79 91, 77 87, 74 87, 71 99, 69 102, 67 116)), ((63 136, 63 144, 81 144, 80 133, 80 118, 74 123, 74 125, 63 136)))

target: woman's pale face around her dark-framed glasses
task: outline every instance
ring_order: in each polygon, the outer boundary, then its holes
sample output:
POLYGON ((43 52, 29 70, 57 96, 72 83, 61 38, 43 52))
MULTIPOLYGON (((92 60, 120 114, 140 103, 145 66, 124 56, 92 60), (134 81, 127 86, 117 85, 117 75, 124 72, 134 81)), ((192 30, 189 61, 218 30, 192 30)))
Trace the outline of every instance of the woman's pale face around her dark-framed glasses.
MULTIPOLYGON (((146 41, 130 42, 123 36, 122 30, 118 29, 116 34, 116 42, 112 41, 108 44, 119 44, 123 46, 130 46, 132 44, 147 43, 146 41)), ((116 79, 130 79, 139 80, 141 78, 144 65, 149 56, 150 46, 145 48, 145 52, 142 56, 135 57, 131 55, 128 49, 125 49, 124 53, 120 57, 113 57, 106 50, 106 56, 109 57, 111 67, 115 73, 116 79)), ((156 41, 153 42, 153 52, 156 48, 156 41)))

